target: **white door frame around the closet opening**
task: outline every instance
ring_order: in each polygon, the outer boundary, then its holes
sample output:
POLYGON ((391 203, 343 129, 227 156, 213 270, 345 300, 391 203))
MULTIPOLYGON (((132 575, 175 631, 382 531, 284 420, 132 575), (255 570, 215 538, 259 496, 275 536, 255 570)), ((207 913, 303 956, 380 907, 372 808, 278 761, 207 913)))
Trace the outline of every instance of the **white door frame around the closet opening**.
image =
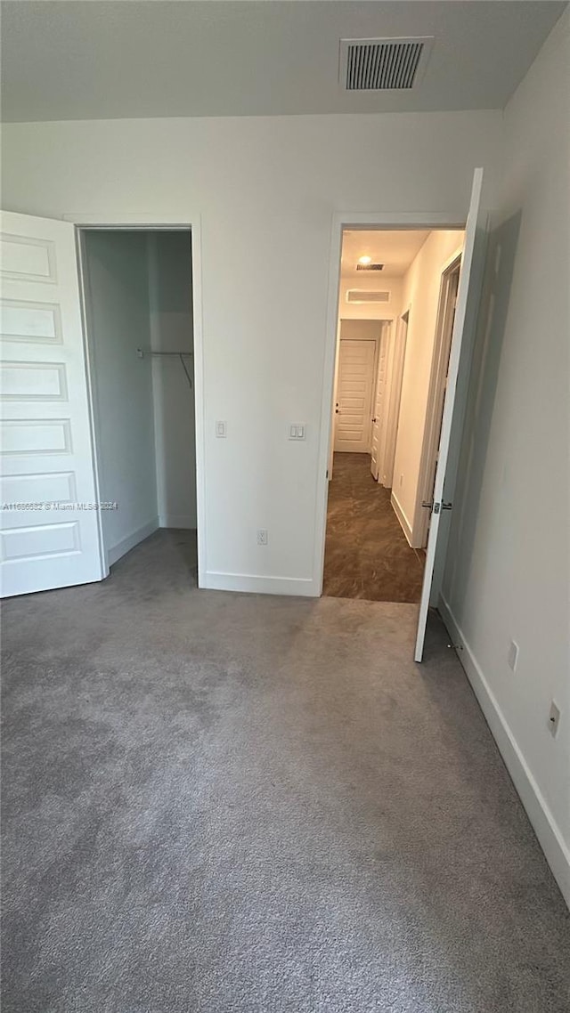
MULTIPOLYGON (((76 247, 77 247, 77 269, 79 275, 79 291, 81 294, 81 312, 83 317, 83 341, 85 345, 85 362, 87 369, 87 394, 89 400, 89 417, 91 422, 91 441, 93 447, 93 463, 95 470, 95 490, 99 496, 99 476, 98 476, 98 450, 96 444, 96 431, 94 425, 94 392, 93 379, 91 376, 89 362, 89 347, 87 344, 87 327, 85 313, 85 292, 83 285, 83 263, 81 255, 81 232, 84 229, 104 229, 112 231, 140 230, 141 232, 190 232, 192 239, 192 304, 193 304, 193 324, 194 324, 194 405, 196 424, 196 511, 197 511, 197 539, 198 539, 198 587, 206 587, 206 450, 205 450, 205 424, 204 424, 204 328, 202 311, 202 221, 201 216, 195 212, 188 217, 186 215, 156 215, 147 214, 82 214, 62 215, 65 222, 75 225, 76 247)), ((101 571, 104 576, 109 574, 106 554, 102 539, 102 526, 100 514, 98 515, 98 536, 99 536, 99 556, 101 559, 101 571)))

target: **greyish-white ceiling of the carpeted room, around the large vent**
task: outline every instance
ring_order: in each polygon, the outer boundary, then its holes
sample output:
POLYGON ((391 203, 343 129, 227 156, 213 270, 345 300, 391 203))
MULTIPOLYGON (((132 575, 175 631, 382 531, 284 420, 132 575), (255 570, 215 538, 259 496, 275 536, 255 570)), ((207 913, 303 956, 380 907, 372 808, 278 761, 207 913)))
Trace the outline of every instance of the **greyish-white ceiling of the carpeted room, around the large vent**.
POLYGON ((5 121, 502 108, 566 3, 4 0, 5 121), (342 37, 433 35, 407 92, 347 93, 342 37))

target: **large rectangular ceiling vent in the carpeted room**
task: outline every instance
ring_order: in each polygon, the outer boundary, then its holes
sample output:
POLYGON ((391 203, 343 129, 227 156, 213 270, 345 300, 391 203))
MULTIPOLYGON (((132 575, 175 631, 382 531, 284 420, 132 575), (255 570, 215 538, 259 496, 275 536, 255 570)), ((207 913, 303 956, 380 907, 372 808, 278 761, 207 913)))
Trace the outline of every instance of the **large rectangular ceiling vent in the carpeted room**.
POLYGON ((346 91, 402 91, 424 76, 433 36, 341 38, 340 82, 346 91))

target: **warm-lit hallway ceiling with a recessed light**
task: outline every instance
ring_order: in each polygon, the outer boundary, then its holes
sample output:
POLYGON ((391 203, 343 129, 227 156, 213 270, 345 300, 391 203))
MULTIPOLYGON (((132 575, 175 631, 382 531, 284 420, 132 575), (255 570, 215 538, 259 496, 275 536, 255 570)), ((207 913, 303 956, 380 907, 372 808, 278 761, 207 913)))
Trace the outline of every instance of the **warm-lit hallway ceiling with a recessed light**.
POLYGON ((349 230, 343 233, 341 274, 343 278, 374 278, 380 283, 382 278, 401 278, 406 274, 412 260, 422 248, 429 231, 349 230), (381 271, 357 271, 356 264, 361 256, 371 256, 373 263, 383 263, 381 271))

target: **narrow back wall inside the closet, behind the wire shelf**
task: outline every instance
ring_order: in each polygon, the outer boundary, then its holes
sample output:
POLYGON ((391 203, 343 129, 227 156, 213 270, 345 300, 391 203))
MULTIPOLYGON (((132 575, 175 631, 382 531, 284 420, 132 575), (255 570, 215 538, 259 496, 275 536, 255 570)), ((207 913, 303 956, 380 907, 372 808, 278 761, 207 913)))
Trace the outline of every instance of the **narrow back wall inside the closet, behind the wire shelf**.
MULTIPOLYGON (((150 343, 157 352, 194 350, 189 232, 151 232, 150 343)), ((152 359, 156 485, 161 528, 196 528, 194 360, 190 387, 175 356, 152 359)))

